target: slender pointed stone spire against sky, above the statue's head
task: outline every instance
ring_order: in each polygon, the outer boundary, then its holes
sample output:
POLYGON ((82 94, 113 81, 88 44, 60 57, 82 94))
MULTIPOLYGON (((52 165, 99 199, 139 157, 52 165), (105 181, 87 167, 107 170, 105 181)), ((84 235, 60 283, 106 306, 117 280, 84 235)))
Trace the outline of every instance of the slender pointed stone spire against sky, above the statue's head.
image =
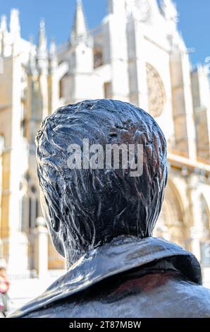
POLYGON ((82 7, 82 0, 77 0, 77 8, 75 11, 75 18, 73 30, 71 32, 70 41, 73 45, 77 44, 80 40, 87 37, 87 24, 85 20, 85 13, 82 7))

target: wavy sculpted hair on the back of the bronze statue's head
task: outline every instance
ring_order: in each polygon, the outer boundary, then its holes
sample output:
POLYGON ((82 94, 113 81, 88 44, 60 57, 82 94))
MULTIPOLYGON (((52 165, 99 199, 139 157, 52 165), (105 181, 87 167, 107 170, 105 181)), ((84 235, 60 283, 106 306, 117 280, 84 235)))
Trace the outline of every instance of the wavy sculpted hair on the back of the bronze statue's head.
POLYGON ((129 235, 151 237, 167 181, 166 140, 142 109, 113 100, 61 107, 37 134, 39 184, 51 223, 68 239, 74 262, 89 249, 129 235), (143 174, 125 170, 70 170, 68 146, 142 144, 143 174))

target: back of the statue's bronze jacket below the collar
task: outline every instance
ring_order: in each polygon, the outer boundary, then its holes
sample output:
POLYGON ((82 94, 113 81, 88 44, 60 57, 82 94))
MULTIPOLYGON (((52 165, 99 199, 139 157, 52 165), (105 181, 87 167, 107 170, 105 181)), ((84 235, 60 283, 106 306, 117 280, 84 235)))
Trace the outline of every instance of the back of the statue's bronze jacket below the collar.
POLYGON ((210 316, 210 290, 192 283, 181 275, 159 273, 144 275, 139 287, 136 280, 127 280, 121 287, 112 288, 109 296, 100 296, 93 290, 91 296, 78 294, 48 306, 23 314, 23 318, 78 318, 78 317, 141 317, 141 318, 206 318, 210 316), (171 277, 169 276, 171 275, 171 277), (148 283, 145 284, 145 278, 148 283), (169 277, 169 278, 168 278, 169 277), (155 279, 155 283, 154 280, 155 279), (157 282, 158 279, 158 282, 157 282), (163 281, 163 282, 162 282, 163 281), (158 283, 158 285, 156 285, 158 283), (135 285, 135 292, 133 292, 135 285), (150 286, 150 287, 149 287, 150 286), (130 287, 130 288, 129 288, 130 287), (121 294, 122 292, 122 294, 121 294), (122 296, 121 296, 122 295, 122 296), (111 305, 110 305, 111 300, 111 305), (149 307, 145 306, 149 303, 149 307), (135 305, 134 305, 135 304, 135 305), (123 309, 122 309, 123 308, 123 309), (135 308, 135 309, 134 309, 135 308))

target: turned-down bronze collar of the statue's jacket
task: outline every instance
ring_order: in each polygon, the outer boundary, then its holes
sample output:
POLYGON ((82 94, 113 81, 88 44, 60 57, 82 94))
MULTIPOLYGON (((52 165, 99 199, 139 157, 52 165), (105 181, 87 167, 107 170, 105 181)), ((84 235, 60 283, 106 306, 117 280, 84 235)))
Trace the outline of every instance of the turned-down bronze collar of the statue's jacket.
POLYGON ((118 237, 82 256, 68 272, 42 295, 11 315, 21 317, 58 300, 63 300, 112 275, 173 256, 181 261, 181 272, 193 283, 202 284, 197 259, 185 249, 163 239, 118 237))

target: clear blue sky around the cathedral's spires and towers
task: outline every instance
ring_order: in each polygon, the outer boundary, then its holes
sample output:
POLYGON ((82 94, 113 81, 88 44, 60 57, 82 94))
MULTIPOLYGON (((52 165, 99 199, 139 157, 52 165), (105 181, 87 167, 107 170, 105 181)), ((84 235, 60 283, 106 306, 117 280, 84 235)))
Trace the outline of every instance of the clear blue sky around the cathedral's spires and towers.
MULTIPOLYGON (((1 0, 0 14, 9 15, 11 8, 20 9, 24 38, 37 37, 39 19, 45 18, 48 37, 60 44, 68 39, 73 24, 76 0, 1 0)), ((120 0, 119 0, 120 1, 120 0)), ((155 0, 154 0, 155 1, 155 0)), ((210 1, 175 0, 180 13, 179 29, 187 47, 194 47, 193 64, 204 63, 210 56, 210 1)), ((83 0, 89 28, 98 25, 106 13, 106 0, 83 0)))

